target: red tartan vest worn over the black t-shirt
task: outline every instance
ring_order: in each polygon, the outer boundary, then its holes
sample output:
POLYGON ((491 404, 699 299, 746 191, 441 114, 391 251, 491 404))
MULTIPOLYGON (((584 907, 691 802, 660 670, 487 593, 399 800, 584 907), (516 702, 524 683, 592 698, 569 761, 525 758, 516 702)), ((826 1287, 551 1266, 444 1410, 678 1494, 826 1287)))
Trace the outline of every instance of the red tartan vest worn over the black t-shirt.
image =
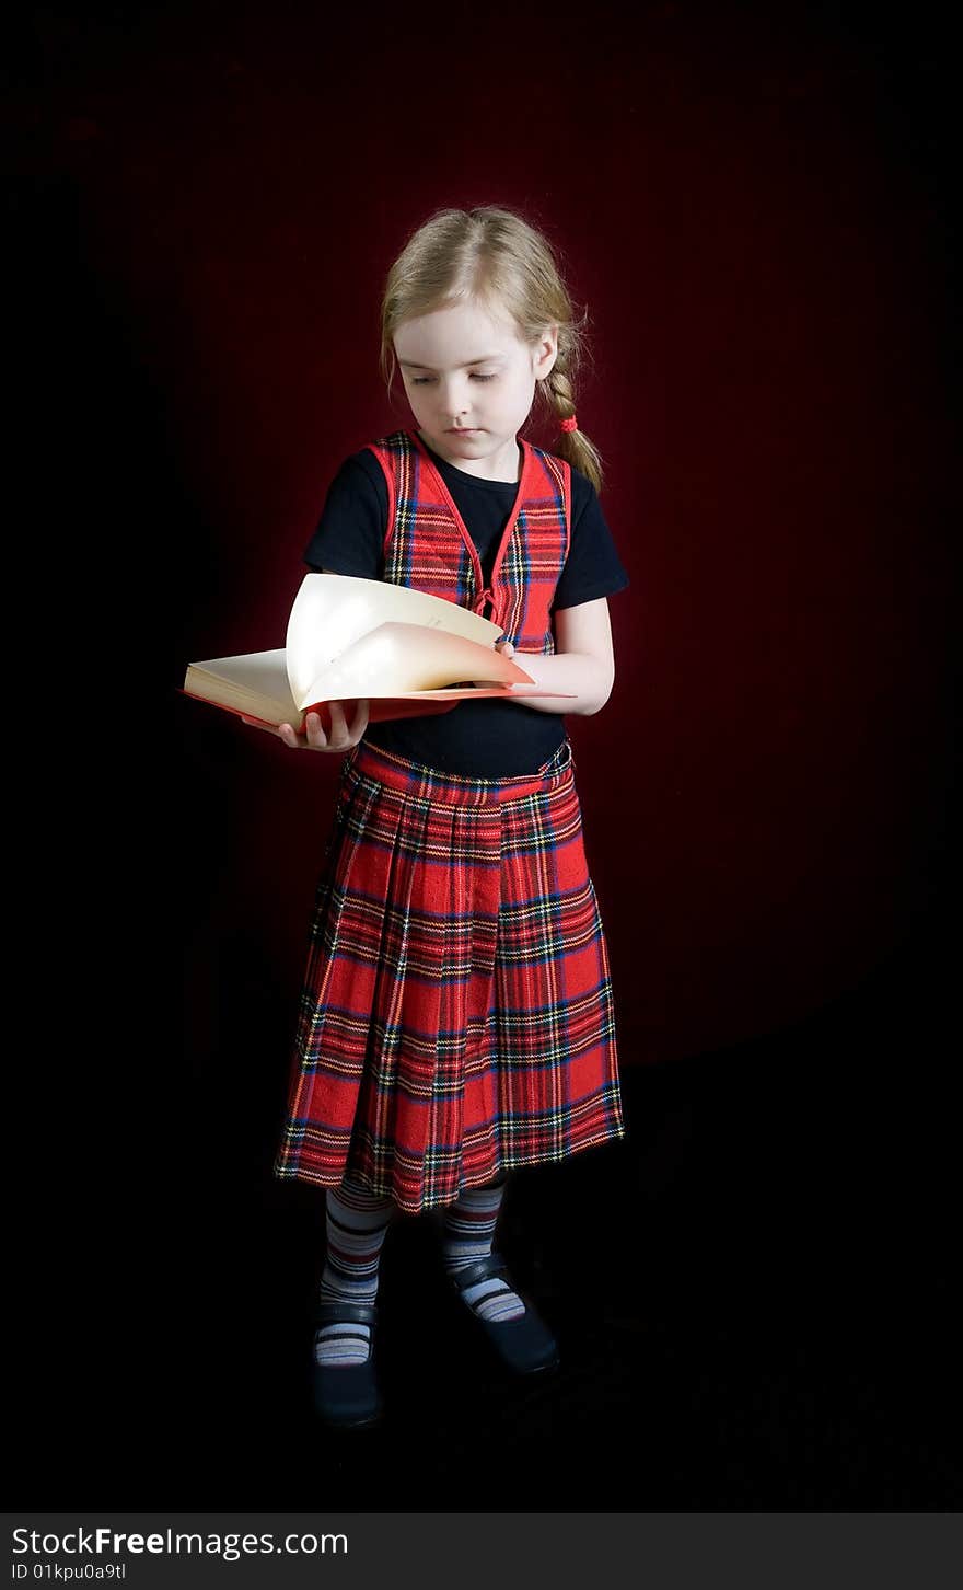
POLYGON ((553 652, 551 601, 569 553, 569 464, 520 442, 521 480, 489 587, 458 507, 415 431, 372 444, 388 483, 385 579, 491 617, 523 652, 553 652))

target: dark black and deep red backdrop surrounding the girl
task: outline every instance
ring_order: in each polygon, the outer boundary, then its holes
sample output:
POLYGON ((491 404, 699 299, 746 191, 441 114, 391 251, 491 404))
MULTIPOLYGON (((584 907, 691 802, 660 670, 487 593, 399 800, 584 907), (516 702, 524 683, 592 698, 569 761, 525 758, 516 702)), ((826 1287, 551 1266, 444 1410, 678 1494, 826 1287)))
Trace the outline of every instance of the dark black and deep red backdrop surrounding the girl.
MULTIPOLYGON (((383 273, 482 202, 547 231, 591 313, 578 415, 632 585, 570 735, 631 1137, 507 1205, 567 1323, 555 1401, 475 1388, 448 1428, 458 1355, 394 1348, 396 1429, 434 1463, 445 1429, 480 1506, 958 1503, 947 59, 926 5, 21 8, 24 1503, 358 1495, 302 1407, 318 1196, 270 1175, 337 758, 176 687, 283 644, 334 469, 405 421, 383 273), (524 1499, 482 1480, 499 1418, 547 1444, 524 1499), (99 1468, 68 1439, 92 1420, 99 1468), (625 1428, 634 1464, 558 1456, 625 1428)), ((431 1294, 427 1224, 396 1299, 420 1266, 431 1294)), ((450 1466, 431 1499, 378 1474, 356 1506, 451 1504, 450 1466)))

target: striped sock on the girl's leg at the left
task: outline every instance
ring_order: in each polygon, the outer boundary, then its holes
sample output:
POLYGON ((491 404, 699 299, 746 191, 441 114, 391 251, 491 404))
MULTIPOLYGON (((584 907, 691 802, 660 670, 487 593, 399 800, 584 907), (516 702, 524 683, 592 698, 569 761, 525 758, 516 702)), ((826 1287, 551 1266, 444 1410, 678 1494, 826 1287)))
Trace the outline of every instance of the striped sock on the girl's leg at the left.
MULTIPOLYGON (((372 1304, 378 1296, 378 1259, 394 1215, 389 1197, 375 1197, 351 1180, 327 1189, 327 1259, 321 1274, 321 1302, 372 1304)), ((364 1364, 370 1352, 367 1324, 345 1320, 315 1332, 319 1364, 364 1364)))

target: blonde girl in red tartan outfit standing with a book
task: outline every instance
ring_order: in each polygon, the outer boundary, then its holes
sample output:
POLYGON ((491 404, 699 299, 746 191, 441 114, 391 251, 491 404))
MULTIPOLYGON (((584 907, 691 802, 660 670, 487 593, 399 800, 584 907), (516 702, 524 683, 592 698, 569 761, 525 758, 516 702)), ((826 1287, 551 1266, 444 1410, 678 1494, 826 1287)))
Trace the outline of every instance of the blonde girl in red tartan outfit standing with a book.
POLYGON ((493 1251, 507 1172, 623 1135, 609 959, 564 712, 612 690, 607 596, 628 585, 575 420, 578 331, 547 240, 445 210, 383 299, 381 364, 415 429, 353 455, 305 561, 461 603, 563 698, 461 703, 369 728, 308 714, 286 746, 348 752, 318 886, 278 1177, 327 1189, 318 1412, 378 1417, 378 1256, 396 1210, 440 1210, 443 1262, 521 1374, 556 1344, 493 1251), (520 440, 536 393, 558 453, 520 440))

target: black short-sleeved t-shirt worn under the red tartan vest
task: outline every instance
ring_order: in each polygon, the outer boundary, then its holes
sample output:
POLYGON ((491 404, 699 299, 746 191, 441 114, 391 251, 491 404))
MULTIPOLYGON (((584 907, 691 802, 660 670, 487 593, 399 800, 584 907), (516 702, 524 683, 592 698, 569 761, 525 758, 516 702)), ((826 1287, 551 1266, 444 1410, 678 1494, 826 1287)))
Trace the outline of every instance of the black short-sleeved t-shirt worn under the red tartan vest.
MULTIPOLYGON (((482 480, 456 469, 429 448, 435 469, 475 542, 488 584, 518 482, 482 480)), ((331 574, 385 579, 388 485, 370 448, 353 453, 334 477, 305 563, 331 574)), ((569 555, 555 588, 551 611, 578 607, 612 596, 629 584, 618 561, 612 533, 596 490, 572 469, 572 534, 569 555)), ((524 668, 524 658, 520 660, 524 668)), ((437 717, 372 723, 365 739, 399 757, 469 778, 512 778, 536 773, 566 738, 561 712, 539 712, 513 701, 459 701, 437 717)))

